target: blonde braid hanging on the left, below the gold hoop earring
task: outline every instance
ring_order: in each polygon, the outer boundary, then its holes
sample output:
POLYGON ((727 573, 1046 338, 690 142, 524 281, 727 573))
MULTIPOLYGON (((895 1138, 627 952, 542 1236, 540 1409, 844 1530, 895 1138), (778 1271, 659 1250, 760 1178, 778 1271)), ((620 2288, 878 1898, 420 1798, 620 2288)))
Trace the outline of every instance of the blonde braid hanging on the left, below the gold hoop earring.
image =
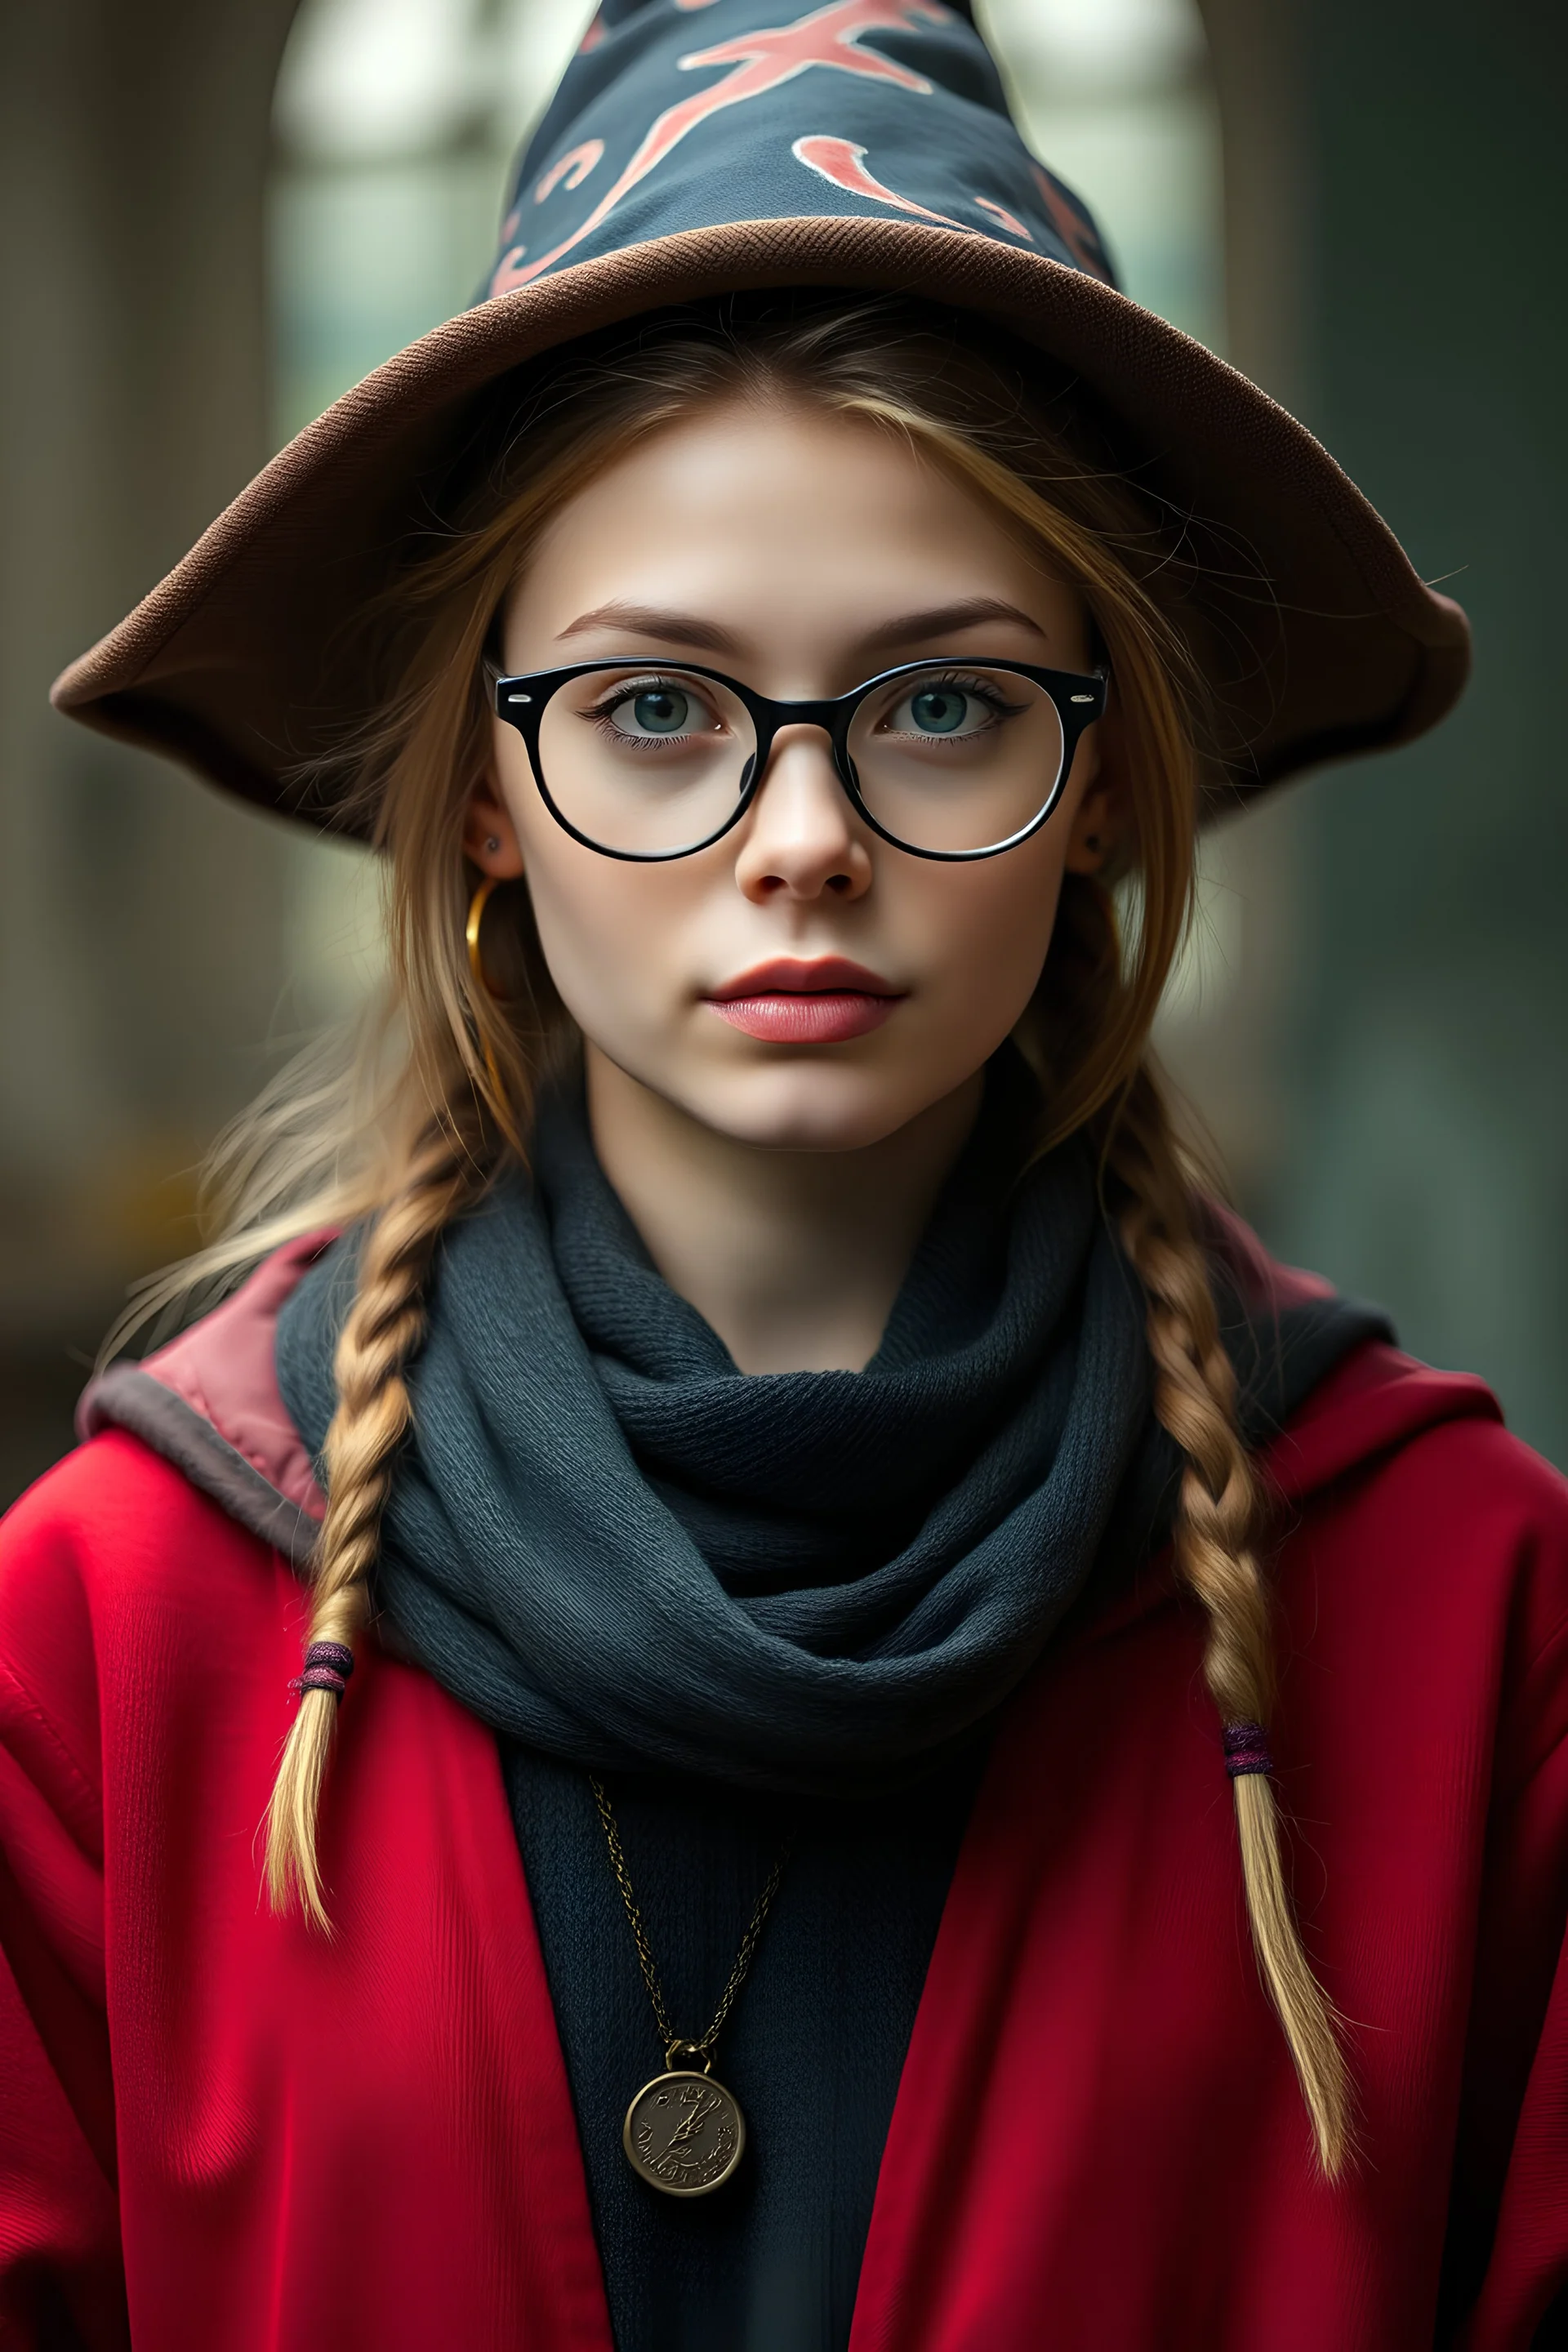
POLYGON ((477 1190, 473 1150, 451 1129, 416 1150, 407 1185, 378 1211, 360 1254, 360 1282, 334 1376, 327 1430, 327 1517, 315 1545, 313 1606, 299 1715, 284 1740, 266 1816, 266 1884, 275 1912, 294 1893, 329 1931, 315 1825, 355 1637, 369 1618, 369 1571, 393 1461, 409 1432, 404 1369, 425 1331, 423 1284, 442 1228, 477 1190))

